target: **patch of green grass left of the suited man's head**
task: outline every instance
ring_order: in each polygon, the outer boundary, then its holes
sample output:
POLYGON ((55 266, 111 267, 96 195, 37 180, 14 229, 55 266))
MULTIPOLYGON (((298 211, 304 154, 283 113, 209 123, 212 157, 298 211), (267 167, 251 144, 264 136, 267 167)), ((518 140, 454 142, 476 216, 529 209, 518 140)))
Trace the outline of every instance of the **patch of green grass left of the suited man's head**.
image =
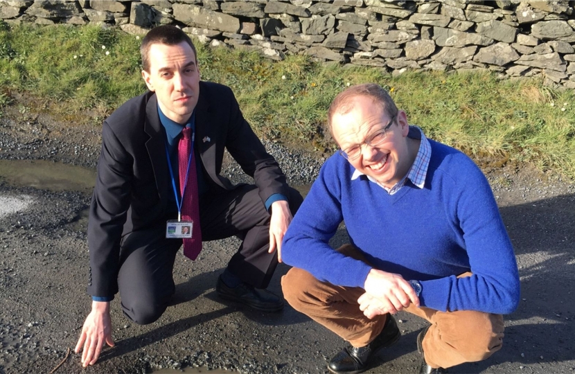
POLYGON ((99 27, 0 27, 0 87, 62 112, 112 109, 144 89, 138 48, 134 37, 99 27))

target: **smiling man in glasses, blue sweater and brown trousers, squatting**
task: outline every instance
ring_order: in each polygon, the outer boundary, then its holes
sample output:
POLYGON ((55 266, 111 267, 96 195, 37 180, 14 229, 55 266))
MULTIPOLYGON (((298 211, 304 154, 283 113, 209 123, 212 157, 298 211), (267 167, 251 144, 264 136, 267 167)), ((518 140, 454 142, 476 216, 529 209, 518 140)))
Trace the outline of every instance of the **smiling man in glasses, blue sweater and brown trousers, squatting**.
POLYGON ((283 240, 292 307, 351 344, 328 364, 360 373, 400 331, 400 310, 431 324, 418 335, 420 373, 445 373, 502 347, 502 314, 519 275, 488 181, 465 154, 426 139, 377 84, 350 87, 328 112, 341 148, 283 240), (328 241, 344 221, 350 244, 328 241))

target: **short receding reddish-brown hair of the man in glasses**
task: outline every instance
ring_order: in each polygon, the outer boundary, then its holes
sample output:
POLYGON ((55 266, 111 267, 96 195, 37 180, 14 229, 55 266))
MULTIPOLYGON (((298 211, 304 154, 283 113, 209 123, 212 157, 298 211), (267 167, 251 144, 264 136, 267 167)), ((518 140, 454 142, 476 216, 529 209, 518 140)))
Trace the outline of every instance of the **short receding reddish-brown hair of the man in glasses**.
POLYGON ((356 86, 351 86, 345 91, 340 92, 335 96, 335 99, 333 99, 330 109, 328 110, 328 127, 330 132, 333 116, 336 113, 346 114, 351 112, 351 109, 353 109, 354 106, 353 99, 357 96, 373 98, 373 103, 380 105, 384 112, 387 112, 390 117, 396 116, 398 113, 396 103, 393 103, 393 99, 389 96, 389 93, 379 84, 357 84, 356 86))

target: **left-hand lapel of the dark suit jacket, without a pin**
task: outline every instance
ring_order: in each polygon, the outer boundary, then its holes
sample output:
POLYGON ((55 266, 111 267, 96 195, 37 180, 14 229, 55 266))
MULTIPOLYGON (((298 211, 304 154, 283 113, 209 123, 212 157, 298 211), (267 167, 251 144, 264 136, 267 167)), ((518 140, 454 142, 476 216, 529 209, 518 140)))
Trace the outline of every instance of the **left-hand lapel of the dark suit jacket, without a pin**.
POLYGON ((145 148, 150 155, 160 199, 163 202, 167 202, 170 190, 166 187, 168 186, 166 181, 170 180, 170 172, 168 171, 168 159, 166 157, 166 134, 164 134, 160 123, 156 95, 152 95, 150 100, 148 100, 145 114, 144 131, 150 136, 150 139, 145 143, 145 148))

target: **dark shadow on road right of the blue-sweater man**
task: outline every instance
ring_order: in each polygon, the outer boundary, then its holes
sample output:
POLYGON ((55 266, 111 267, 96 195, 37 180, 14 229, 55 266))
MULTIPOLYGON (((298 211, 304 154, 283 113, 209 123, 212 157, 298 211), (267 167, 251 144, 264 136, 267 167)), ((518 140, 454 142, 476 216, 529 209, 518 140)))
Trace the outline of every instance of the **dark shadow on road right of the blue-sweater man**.
POLYGON ((522 299, 506 316, 505 344, 497 360, 574 360, 575 195, 505 206, 501 213, 515 248, 522 299))

